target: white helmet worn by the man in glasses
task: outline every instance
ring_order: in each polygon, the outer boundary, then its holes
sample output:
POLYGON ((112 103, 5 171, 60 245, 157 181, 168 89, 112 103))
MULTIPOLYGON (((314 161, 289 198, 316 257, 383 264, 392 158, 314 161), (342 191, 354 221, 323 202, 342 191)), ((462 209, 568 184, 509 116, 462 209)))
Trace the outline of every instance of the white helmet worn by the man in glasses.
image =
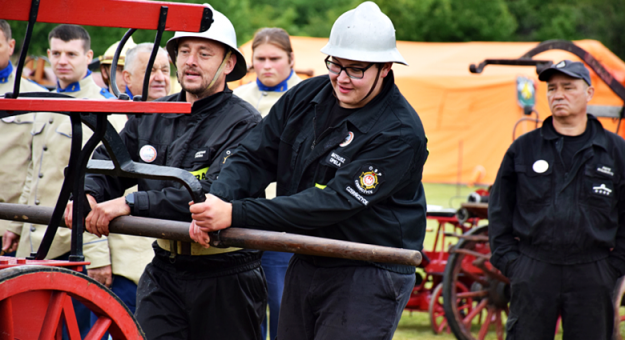
POLYGON ((408 65, 397 50, 393 22, 371 1, 336 19, 321 52, 355 61, 408 65))

